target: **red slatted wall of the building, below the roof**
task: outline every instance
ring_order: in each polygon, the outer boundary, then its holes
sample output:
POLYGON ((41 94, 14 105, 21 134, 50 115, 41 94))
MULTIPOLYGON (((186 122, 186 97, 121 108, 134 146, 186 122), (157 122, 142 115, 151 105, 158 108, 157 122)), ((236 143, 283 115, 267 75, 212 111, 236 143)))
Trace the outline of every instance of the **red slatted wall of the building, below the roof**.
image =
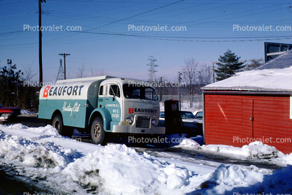
POLYGON ((204 94, 204 112, 206 144, 241 147, 264 138, 263 143, 292 152, 290 96, 204 94))

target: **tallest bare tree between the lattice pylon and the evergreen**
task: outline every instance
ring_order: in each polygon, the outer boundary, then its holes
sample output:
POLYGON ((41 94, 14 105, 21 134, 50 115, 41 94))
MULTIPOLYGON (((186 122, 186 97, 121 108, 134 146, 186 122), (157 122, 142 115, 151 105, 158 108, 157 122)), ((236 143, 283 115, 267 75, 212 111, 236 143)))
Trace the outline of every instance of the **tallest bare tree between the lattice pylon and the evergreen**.
POLYGON ((196 62, 196 59, 189 58, 187 60, 184 60, 184 66, 182 66, 182 72, 184 80, 186 80, 189 83, 189 86, 187 88, 189 89, 189 94, 193 94, 194 90, 194 83, 196 80, 196 68, 198 66, 198 62, 196 62))

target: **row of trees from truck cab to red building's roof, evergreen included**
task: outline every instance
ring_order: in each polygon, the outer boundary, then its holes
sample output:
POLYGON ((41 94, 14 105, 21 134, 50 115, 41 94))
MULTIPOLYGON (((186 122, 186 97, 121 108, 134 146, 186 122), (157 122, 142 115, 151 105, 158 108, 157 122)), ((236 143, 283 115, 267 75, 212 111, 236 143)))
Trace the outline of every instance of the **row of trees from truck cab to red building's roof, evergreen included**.
MULTIPOLYGON (((240 62, 240 57, 231 50, 227 50, 224 52, 224 55, 220 55, 218 61, 216 63, 217 67, 214 67, 214 79, 216 81, 229 78, 240 71, 250 71, 263 64, 263 59, 251 59, 249 62, 240 62)), ((194 58, 184 60, 184 66, 182 66, 180 73, 181 82, 184 83, 184 85, 181 85, 181 94, 184 95, 200 94, 202 92, 200 87, 213 82, 212 68, 203 62, 196 62, 194 58)), ((157 78, 154 82, 154 87, 159 94, 179 94, 177 87, 170 85, 172 82, 178 82, 178 79, 170 81, 164 77, 157 78), (160 85, 160 83, 163 83, 163 85, 160 85)))

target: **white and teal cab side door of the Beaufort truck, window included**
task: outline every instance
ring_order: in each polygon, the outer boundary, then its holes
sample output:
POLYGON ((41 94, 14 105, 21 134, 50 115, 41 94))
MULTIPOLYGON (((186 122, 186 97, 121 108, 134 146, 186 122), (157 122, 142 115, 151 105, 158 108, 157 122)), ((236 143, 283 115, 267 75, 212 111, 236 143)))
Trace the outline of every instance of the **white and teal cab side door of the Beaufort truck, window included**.
POLYGON ((112 122, 110 122, 110 129, 112 125, 119 125, 122 117, 122 94, 121 87, 118 83, 108 84, 108 96, 105 97, 105 108, 110 112, 112 122))

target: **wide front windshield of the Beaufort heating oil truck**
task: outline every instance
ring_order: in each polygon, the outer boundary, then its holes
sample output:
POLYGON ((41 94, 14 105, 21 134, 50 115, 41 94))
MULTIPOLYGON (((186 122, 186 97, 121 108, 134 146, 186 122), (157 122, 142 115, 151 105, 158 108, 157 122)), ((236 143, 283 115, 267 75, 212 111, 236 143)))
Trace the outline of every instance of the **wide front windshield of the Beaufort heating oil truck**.
POLYGON ((152 87, 145 87, 141 85, 124 84, 124 96, 126 99, 146 99, 158 101, 156 91, 152 87))

